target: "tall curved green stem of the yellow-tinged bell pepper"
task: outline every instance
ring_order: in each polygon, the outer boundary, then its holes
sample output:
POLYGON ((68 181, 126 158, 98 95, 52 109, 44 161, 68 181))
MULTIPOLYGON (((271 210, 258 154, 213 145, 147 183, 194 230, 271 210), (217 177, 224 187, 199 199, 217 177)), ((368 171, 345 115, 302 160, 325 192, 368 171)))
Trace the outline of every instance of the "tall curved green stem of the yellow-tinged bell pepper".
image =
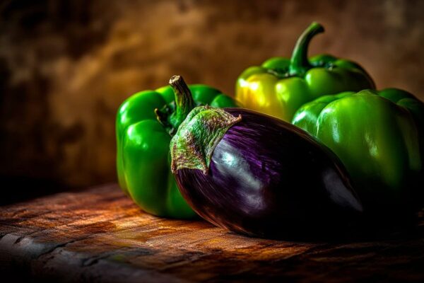
POLYGON ((309 47, 312 37, 319 33, 324 33, 324 27, 317 22, 313 22, 302 35, 300 35, 290 59, 290 75, 303 76, 307 70, 312 68, 312 65, 307 59, 307 48, 309 47))

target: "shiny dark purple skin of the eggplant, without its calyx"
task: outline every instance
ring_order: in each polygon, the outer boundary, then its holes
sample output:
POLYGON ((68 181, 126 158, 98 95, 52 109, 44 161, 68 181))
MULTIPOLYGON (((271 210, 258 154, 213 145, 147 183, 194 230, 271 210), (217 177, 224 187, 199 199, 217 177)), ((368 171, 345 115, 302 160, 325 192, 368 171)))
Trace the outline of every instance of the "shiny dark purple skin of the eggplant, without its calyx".
POLYGON ((268 115, 225 108, 232 125, 208 174, 175 174, 190 206, 212 224, 263 238, 310 238, 351 229, 363 212, 341 161, 302 129, 268 115))

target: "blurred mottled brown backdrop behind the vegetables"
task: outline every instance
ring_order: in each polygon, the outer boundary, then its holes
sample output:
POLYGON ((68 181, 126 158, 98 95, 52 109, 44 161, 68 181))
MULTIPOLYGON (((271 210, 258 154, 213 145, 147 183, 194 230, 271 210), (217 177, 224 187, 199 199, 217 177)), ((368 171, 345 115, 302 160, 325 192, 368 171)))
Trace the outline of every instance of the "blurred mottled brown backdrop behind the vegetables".
POLYGON ((116 180, 114 115, 173 74, 232 94, 246 67, 310 54, 353 59, 378 88, 424 99, 424 1, 0 2, 2 202, 116 180))

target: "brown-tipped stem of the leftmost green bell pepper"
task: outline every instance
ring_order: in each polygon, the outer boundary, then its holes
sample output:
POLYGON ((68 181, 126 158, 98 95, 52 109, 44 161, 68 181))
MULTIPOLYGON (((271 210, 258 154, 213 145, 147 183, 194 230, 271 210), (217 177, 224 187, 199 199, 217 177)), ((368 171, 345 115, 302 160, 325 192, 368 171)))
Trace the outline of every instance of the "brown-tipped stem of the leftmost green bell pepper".
POLYGON ((189 115, 194 108, 192 92, 189 90, 182 76, 172 76, 170 86, 175 94, 175 112, 170 116, 170 124, 177 130, 182 121, 189 115))

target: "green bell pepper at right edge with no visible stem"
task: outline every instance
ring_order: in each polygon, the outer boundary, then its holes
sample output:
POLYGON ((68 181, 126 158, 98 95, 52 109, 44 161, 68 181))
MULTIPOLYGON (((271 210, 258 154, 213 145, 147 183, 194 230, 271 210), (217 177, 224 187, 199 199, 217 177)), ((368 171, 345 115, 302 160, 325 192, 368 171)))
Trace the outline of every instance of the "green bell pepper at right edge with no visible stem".
POLYGON ((322 96, 292 122, 341 159, 368 212, 422 204, 424 103, 411 93, 387 88, 322 96))

